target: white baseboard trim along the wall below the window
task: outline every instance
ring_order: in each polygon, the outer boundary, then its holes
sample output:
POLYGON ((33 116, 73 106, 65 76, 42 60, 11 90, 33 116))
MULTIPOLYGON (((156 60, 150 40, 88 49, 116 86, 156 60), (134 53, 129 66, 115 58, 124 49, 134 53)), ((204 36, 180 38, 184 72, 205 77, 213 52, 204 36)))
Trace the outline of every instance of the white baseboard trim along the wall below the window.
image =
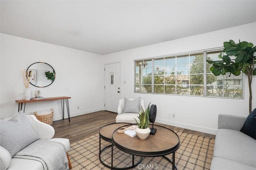
POLYGON ((190 129, 190 130, 193 130, 193 131, 209 133, 209 134, 212 134, 212 135, 216 135, 216 133, 217 133, 217 129, 211 129, 211 128, 208 128, 208 127, 196 126, 196 125, 191 125, 191 124, 187 124, 187 123, 180 123, 180 122, 176 122, 176 121, 169 121, 169 120, 165 120, 165 119, 156 118, 156 122, 163 123, 163 124, 166 124, 166 125, 181 127, 181 128, 184 128, 184 129, 190 129))

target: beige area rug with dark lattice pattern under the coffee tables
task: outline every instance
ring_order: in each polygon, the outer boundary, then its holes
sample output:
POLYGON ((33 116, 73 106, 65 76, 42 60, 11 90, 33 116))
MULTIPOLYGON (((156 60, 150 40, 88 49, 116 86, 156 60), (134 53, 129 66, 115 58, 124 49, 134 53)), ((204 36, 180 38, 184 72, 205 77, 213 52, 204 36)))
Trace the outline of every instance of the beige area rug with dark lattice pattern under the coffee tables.
MULTIPOLYGON (((180 137, 180 148, 175 152, 175 164, 178 170, 210 170, 214 139, 177 132, 180 137)), ((101 149, 109 142, 101 140, 101 149)), ((73 166, 72 170, 103 170, 108 169, 99 161, 99 135, 93 135, 71 145, 68 152, 73 166)), ((172 160, 172 154, 167 155, 172 160)), ((101 154, 102 161, 111 165, 111 147, 101 154)), ((135 163, 140 157, 135 156, 135 163)), ((114 147, 114 166, 128 167, 132 165, 132 156, 114 147)), ((170 170, 172 164, 163 157, 143 158, 142 162, 132 170, 158 169, 170 170)))

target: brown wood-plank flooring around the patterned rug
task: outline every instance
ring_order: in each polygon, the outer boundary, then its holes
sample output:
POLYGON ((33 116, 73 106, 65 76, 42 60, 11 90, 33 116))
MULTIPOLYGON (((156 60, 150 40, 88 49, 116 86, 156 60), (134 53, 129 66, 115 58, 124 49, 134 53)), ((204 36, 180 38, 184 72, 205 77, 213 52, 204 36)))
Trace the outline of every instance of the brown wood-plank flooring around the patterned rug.
MULTIPOLYGON (((100 131, 100 128, 109 123, 116 121, 117 113, 110 111, 97 111, 85 115, 71 117, 70 122, 68 119, 54 121, 52 127, 55 129, 55 138, 67 138, 70 144, 95 135, 100 131)), ((156 125, 162 125, 169 129, 189 133, 193 135, 200 135, 203 137, 209 137, 215 139, 215 135, 208 133, 202 133, 198 131, 192 131, 189 129, 183 129, 180 127, 174 127, 170 125, 164 125, 162 123, 155 123, 156 125)))

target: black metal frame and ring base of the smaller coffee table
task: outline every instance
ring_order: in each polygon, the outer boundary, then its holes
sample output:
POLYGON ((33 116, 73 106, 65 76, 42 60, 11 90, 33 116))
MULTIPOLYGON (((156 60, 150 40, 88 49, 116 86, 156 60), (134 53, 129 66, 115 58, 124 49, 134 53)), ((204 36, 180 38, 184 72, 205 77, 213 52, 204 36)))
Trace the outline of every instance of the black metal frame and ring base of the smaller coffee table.
MULTIPOLYGON (((108 125, 112 125, 112 124, 116 124, 116 123, 110 123, 110 124, 108 124, 108 125)), ((129 124, 132 124, 132 123, 127 123, 128 125, 129 124)), ((108 125, 105 125, 105 126, 108 126, 108 125)), ((103 127, 105 127, 105 126, 103 126, 103 127)), ((102 127, 102 128, 103 128, 102 127)), ((120 127, 122 127, 122 126, 120 126, 120 127)), ((120 129, 120 127, 118 127, 118 129, 120 129)), ((130 168, 134 168, 135 166, 137 166, 138 164, 140 164, 140 162, 142 161, 142 157, 140 158, 140 160, 136 163, 136 164, 134 164, 134 155, 132 154, 132 166, 128 166, 128 167, 124 167, 124 168, 118 168, 118 167, 113 167, 113 165, 111 165, 111 166, 109 166, 109 165, 107 165, 107 164, 105 164, 102 160, 101 160, 101 153, 104 151, 104 150, 106 150, 107 148, 109 148, 109 147, 112 147, 112 145, 113 144, 110 144, 110 145, 107 145, 106 147, 104 147, 103 149, 101 149, 101 139, 102 140, 104 140, 104 141, 107 141, 107 142, 110 142, 110 143, 112 143, 112 138, 110 139, 110 138, 108 138, 108 137, 105 137, 105 136, 103 136, 102 134, 100 134, 100 132, 99 132, 99 160, 100 160, 100 163, 102 164, 102 165, 104 165, 105 167, 107 167, 107 168, 110 168, 110 169, 114 169, 114 170, 127 170, 127 169, 130 169, 130 168)), ((113 147, 112 147, 112 150, 111 150, 111 160, 113 160, 113 147)))

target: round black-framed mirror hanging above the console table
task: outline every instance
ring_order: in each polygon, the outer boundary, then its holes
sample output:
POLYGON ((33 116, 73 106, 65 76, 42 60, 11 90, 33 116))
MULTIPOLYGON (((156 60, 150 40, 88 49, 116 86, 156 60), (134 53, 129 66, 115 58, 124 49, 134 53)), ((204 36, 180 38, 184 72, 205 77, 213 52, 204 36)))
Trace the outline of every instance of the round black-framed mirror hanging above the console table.
POLYGON ((55 70, 50 66, 50 64, 44 62, 37 62, 31 64, 27 72, 30 72, 30 84, 36 87, 47 87, 50 86, 55 78, 55 70))

